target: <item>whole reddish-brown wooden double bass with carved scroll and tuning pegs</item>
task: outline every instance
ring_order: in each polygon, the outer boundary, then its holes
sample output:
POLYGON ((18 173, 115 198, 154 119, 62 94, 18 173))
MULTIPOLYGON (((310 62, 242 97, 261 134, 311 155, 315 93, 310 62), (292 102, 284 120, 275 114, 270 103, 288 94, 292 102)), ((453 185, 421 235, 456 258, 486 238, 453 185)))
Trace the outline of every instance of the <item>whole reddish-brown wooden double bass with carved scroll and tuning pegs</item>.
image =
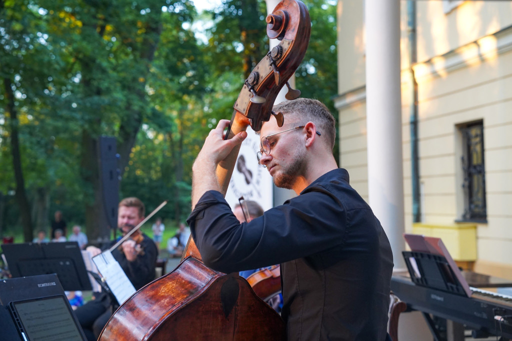
MULTIPOLYGON (((280 40, 252 70, 234 103, 226 139, 251 126, 260 131, 273 116, 279 126, 283 115, 272 112, 280 90, 294 99, 300 92, 288 79, 307 50, 311 23, 306 6, 283 0, 266 18, 267 35, 280 40)), ((234 148, 216 170, 225 195, 240 147, 234 148)), ((100 340, 285 340, 285 325, 238 273, 212 270, 201 261, 189 239, 180 264, 172 272, 133 294, 112 315, 100 340)))

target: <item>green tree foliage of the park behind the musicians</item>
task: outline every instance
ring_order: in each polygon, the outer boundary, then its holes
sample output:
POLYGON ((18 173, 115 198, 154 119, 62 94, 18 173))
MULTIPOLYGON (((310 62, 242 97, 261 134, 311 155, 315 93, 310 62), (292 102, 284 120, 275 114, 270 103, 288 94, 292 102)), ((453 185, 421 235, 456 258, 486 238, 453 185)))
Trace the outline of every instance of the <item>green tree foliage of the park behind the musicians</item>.
MULTIPOLYGON (((296 83, 333 109, 335 5, 307 5, 312 36, 296 83)), ((189 0, 0 1, 0 235, 23 228, 31 240, 60 209, 104 238, 103 135, 117 139, 120 197, 148 211, 168 200, 159 215, 183 221, 204 138, 268 51, 265 13, 257 0, 201 15, 189 0), (195 20, 211 28, 199 35, 195 20)))

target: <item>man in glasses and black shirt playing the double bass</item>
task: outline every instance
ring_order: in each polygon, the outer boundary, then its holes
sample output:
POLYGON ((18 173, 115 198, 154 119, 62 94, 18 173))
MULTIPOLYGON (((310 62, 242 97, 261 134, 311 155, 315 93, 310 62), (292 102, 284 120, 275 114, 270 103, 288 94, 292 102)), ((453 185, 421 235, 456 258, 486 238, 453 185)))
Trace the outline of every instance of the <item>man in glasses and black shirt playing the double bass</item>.
POLYGON ((224 141, 228 121, 220 121, 193 166, 187 222, 202 260, 226 273, 281 264, 289 340, 383 341, 393 255, 371 208, 337 167, 335 120, 312 99, 273 111, 283 113, 284 125, 263 123, 259 163, 276 186, 298 196, 240 223, 220 193, 216 167, 247 134, 224 141))

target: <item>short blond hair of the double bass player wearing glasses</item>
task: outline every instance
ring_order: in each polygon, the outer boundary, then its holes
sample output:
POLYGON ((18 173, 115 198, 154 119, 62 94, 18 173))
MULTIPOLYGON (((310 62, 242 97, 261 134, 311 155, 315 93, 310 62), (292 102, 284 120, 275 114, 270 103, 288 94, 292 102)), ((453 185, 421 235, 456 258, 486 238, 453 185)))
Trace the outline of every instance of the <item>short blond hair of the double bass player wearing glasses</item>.
MULTIPOLYGON (((274 113, 283 113, 285 124, 301 125, 311 121, 318 132, 325 137, 327 145, 334 148, 336 141, 336 120, 327 106, 321 101, 310 98, 297 98, 274 105, 274 113)), ((291 127, 291 126, 290 126, 291 127)))

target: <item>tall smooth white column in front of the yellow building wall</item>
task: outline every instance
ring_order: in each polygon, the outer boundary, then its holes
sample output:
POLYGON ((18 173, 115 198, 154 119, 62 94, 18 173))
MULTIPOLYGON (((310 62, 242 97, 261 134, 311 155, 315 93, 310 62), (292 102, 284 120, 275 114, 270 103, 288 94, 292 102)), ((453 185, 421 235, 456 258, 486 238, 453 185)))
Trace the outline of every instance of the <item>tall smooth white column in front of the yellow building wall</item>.
POLYGON ((400 98, 400 1, 366 0, 366 94, 370 206, 405 269, 400 98))

